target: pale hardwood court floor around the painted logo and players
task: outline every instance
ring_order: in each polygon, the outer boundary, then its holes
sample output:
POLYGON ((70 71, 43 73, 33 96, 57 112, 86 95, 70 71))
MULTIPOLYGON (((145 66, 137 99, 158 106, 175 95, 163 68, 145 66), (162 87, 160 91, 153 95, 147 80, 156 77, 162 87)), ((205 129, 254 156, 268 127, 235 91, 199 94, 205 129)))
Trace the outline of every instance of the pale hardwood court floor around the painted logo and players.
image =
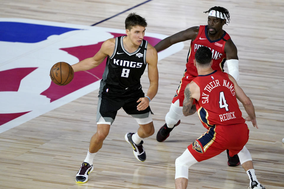
MULTIPOLYGON (((93 25, 142 2, 1 0, 0 17, 93 25)), ((267 189, 283 188, 283 1, 152 0, 97 26, 124 29, 125 17, 137 12, 148 21, 146 35, 147 32, 172 35, 188 27, 206 25, 207 14, 203 12, 213 6, 223 6, 230 12, 231 22, 223 29, 238 48, 238 83, 255 106, 259 129, 248 123, 250 138, 246 147, 253 158, 257 178, 267 189)), ((138 125, 120 110, 94 159, 89 181, 83 185, 75 183, 89 140, 96 131, 98 90, 95 90, 0 133, 0 188, 175 188, 175 159, 205 132, 195 114, 182 118, 165 142, 156 141, 156 132, 164 124, 164 116, 183 76, 190 41, 184 45, 183 50, 158 62, 159 91, 150 103, 156 131, 144 140, 146 162, 138 162, 125 142, 125 133, 137 131, 138 125)), ((146 91, 147 71, 141 80, 146 91)), ((240 108, 246 116, 241 105, 240 108)), ((227 166, 223 152, 191 166, 188 183, 188 188, 239 189, 247 188, 249 180, 241 166, 227 166)))

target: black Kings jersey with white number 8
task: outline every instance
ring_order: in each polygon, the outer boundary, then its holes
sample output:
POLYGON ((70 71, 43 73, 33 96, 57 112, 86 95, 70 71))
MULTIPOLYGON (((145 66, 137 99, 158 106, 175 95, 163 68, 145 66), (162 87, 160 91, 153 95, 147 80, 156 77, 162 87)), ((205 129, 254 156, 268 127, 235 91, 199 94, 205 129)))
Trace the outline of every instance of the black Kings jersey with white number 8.
POLYGON ((123 46, 123 38, 115 38, 112 56, 107 56, 106 68, 102 80, 109 87, 134 88, 140 87, 140 78, 146 68, 146 50, 148 42, 143 40, 138 49, 129 53, 123 46))

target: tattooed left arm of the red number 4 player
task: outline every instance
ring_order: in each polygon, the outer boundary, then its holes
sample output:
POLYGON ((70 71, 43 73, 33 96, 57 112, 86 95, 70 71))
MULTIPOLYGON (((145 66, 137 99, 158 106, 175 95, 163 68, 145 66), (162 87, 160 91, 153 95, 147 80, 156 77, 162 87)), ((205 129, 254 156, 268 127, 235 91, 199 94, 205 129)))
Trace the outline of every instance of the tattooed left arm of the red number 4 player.
POLYGON ((196 108, 193 108, 193 100, 199 100, 200 88, 195 82, 190 82, 184 89, 184 100, 183 100, 183 115, 188 116, 196 112, 196 108))

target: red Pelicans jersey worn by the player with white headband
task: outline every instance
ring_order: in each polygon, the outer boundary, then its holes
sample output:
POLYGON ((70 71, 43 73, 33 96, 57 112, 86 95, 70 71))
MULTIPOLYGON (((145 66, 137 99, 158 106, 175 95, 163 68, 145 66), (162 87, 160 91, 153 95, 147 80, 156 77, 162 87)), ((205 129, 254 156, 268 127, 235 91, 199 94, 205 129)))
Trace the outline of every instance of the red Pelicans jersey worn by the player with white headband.
POLYGON ((199 26, 199 32, 195 40, 191 41, 190 49, 188 52, 188 58, 186 63, 186 71, 193 75, 198 76, 197 69, 193 65, 193 60, 195 56, 196 50, 201 46, 206 46, 212 51, 212 69, 224 71, 224 63, 226 61, 226 53, 224 50, 225 43, 227 40, 230 39, 230 35, 224 31, 224 34, 220 39, 217 40, 210 40, 207 35, 207 25, 206 26, 199 26))

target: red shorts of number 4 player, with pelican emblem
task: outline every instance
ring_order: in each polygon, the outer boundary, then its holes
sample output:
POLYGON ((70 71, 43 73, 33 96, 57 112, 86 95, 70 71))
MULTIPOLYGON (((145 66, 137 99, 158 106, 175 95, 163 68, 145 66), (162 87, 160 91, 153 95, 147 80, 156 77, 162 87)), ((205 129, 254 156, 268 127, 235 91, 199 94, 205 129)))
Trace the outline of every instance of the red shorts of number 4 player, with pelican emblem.
MULTIPOLYGON (((217 156, 226 149, 230 154, 238 154, 249 140, 249 128, 246 123, 237 125, 217 125, 201 135, 187 148, 193 157, 201 162, 217 156)), ((230 155, 231 156, 231 155, 230 155)))

